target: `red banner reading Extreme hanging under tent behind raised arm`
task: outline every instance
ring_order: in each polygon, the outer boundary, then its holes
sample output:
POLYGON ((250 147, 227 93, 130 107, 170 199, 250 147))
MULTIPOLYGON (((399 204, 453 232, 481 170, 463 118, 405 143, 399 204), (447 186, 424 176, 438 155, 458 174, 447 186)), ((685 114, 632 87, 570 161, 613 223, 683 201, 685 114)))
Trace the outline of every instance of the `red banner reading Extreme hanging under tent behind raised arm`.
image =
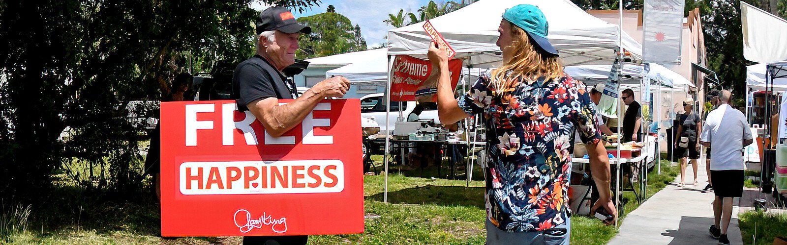
MULTIPOLYGON (((462 60, 448 61, 451 88, 456 88, 462 60)), ((438 72, 429 60, 397 55, 391 68, 391 101, 437 101, 438 72)))

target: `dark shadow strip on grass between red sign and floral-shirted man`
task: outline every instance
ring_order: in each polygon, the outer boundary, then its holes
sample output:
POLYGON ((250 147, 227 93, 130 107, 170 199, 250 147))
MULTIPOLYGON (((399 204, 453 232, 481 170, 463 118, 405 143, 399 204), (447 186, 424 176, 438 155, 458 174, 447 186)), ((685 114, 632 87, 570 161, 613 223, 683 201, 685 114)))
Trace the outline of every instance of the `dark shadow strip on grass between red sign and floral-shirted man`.
MULTIPOLYGON (((383 193, 368 199, 382 202, 383 193)), ((426 185, 388 192, 389 203, 435 204, 440 206, 464 206, 484 209, 484 188, 464 186, 426 185)))

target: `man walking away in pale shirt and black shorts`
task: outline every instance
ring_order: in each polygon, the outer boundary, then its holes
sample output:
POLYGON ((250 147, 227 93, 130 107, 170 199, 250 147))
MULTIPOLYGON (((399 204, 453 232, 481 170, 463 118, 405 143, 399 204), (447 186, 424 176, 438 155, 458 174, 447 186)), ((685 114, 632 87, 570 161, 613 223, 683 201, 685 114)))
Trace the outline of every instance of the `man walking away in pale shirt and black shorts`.
POLYGON ((708 114, 700 136, 700 143, 711 148, 712 153, 715 225, 711 225, 710 232, 719 239, 719 244, 730 244, 727 227, 733 213, 733 198, 743 196, 743 148, 753 142, 745 115, 730 106, 731 97, 730 91, 722 90, 719 108, 708 114))

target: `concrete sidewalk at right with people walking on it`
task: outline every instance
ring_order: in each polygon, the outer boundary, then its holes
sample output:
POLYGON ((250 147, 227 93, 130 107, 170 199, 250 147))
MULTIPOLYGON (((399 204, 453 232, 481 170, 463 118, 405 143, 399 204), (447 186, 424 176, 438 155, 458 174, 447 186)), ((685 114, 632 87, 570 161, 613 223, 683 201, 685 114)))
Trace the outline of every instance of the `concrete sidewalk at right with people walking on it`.
MULTIPOLYGON (((718 240, 708 233, 708 228, 714 224, 713 192, 700 192, 708 185, 704 161, 699 164, 698 172, 699 184, 690 185, 694 173, 691 165, 686 166, 685 187, 675 185, 681 180, 678 175, 673 184, 667 185, 628 214, 620 226, 618 236, 609 244, 717 244, 718 240)), ((737 219, 740 199, 734 200, 727 237, 730 244, 743 244, 737 219)))

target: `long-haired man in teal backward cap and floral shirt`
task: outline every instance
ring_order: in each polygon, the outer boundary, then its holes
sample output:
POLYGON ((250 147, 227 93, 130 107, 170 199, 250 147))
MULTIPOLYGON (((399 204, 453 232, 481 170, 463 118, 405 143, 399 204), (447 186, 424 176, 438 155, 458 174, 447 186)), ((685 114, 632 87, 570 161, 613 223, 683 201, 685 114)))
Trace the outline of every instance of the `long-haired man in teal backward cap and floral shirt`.
POLYGON ((453 96, 445 46, 427 56, 441 68, 438 115, 451 124, 469 115, 486 123, 486 244, 568 244, 571 211, 571 136, 579 131, 588 148, 600 198, 590 212, 617 217, 610 194, 609 159, 600 143, 596 109, 586 86, 563 72, 541 9, 515 5, 498 28, 503 64, 472 90, 453 96))

